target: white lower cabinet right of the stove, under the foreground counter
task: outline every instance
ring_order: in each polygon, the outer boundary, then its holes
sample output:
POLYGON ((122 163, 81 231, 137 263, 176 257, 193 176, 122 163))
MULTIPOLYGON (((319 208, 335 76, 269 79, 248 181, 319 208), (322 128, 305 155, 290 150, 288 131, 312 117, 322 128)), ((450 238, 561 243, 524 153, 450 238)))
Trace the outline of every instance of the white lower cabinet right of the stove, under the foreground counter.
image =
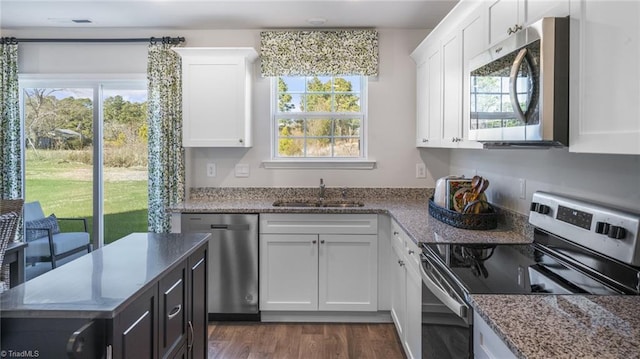
POLYGON ((478 313, 473 313, 473 356, 476 359, 516 358, 478 313))

